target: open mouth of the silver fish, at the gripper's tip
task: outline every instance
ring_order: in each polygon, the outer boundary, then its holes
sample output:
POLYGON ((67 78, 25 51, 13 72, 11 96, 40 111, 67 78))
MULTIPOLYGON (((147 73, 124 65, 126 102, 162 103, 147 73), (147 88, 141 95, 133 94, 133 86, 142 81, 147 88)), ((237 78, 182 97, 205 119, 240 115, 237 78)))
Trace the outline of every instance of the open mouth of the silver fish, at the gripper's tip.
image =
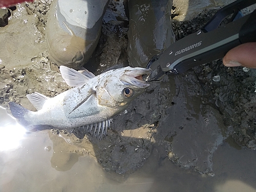
POLYGON ((120 77, 120 80, 132 84, 138 88, 146 88, 150 86, 150 83, 143 80, 143 75, 150 75, 152 73, 151 69, 144 68, 132 68, 133 70, 127 70, 120 77))

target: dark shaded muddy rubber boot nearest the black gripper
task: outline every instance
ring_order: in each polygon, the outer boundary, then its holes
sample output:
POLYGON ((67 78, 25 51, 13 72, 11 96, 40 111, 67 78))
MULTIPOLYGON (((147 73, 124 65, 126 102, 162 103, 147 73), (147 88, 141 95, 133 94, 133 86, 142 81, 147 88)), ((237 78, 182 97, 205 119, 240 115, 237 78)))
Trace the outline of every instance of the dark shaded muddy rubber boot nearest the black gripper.
POLYGON ((173 1, 130 0, 127 3, 125 8, 129 9, 129 65, 145 68, 154 55, 175 41, 170 18, 173 1))

